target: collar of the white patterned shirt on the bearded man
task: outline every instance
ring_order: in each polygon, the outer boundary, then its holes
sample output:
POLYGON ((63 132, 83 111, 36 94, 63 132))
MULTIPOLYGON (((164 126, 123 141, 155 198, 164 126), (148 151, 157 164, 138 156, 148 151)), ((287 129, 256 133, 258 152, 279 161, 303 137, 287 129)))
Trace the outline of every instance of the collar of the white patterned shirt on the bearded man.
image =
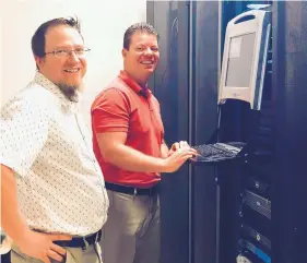
MULTIPOLYGON (((34 82, 39 84, 40 86, 45 87, 46 89, 48 89, 49 92, 51 92, 59 100, 59 103, 62 105, 62 107, 67 110, 70 111, 78 111, 79 110, 79 103, 74 103, 69 100, 63 93, 61 92, 61 89, 51 81, 49 81, 45 75, 43 75, 39 72, 36 72, 35 76, 34 76, 34 82)), ((78 97, 79 97, 79 101, 81 99, 81 94, 80 92, 78 92, 78 97)))

